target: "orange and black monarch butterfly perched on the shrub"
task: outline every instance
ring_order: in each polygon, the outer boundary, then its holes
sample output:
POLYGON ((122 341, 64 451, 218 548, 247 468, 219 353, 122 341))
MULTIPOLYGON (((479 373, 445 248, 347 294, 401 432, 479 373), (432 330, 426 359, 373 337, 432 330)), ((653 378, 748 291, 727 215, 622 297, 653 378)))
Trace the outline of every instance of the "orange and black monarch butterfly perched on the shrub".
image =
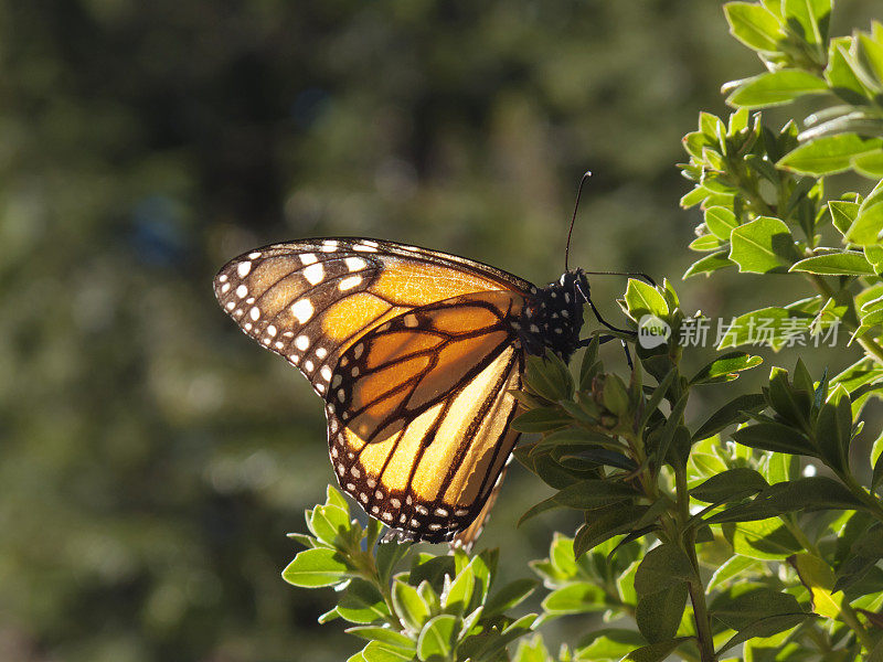
POLYGON ((579 345, 585 275, 543 288, 392 242, 258 248, 215 278, 242 330, 325 399, 338 482, 403 537, 471 542, 518 440, 528 354, 579 345))

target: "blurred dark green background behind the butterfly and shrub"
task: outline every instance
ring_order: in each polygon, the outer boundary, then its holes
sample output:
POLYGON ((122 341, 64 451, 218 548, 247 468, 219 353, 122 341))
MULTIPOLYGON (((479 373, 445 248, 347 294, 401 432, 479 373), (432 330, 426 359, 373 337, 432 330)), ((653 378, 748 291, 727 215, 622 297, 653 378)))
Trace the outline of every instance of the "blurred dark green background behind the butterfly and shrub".
MULTIPOLYGON (((708 0, 6 1, 0 58, 3 661, 354 652, 279 577, 332 480, 320 403, 216 307, 216 269, 343 234, 545 282, 591 169, 572 264, 679 280, 680 138, 760 71, 708 0)), ((679 290, 783 301, 757 282, 679 290)), ((623 287, 593 281, 614 321, 623 287)), ((510 473, 481 541, 506 577, 572 532, 514 530, 545 494, 510 473)))

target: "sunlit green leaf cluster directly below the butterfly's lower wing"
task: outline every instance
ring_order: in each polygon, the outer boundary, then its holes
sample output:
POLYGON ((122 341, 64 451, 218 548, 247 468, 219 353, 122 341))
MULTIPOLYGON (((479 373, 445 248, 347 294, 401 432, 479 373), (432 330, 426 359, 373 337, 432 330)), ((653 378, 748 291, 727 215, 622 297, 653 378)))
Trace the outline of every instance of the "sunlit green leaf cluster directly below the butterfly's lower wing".
POLYGON ((351 662, 508 660, 507 645, 530 633, 538 619, 506 615, 534 590, 535 580, 491 591, 496 551, 435 556, 415 554, 411 543, 379 541, 380 523, 370 520, 363 527, 351 519, 347 500, 331 487, 326 503, 306 516, 310 534, 290 537, 307 548, 283 578, 304 588, 334 588, 337 606, 319 622, 342 619, 352 623, 348 633, 369 641, 351 662))

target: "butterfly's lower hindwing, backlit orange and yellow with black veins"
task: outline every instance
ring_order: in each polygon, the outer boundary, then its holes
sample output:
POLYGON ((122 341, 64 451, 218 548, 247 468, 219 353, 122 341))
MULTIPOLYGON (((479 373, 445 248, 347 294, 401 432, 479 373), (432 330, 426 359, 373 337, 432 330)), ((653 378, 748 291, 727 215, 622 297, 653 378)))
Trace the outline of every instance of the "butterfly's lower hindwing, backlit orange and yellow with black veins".
MULTIPOLYGON (((411 537, 476 525, 518 434, 523 353, 511 291, 453 297, 396 316, 344 351, 327 396, 341 487, 411 537)), ((487 509, 486 509, 487 510, 487 509)))

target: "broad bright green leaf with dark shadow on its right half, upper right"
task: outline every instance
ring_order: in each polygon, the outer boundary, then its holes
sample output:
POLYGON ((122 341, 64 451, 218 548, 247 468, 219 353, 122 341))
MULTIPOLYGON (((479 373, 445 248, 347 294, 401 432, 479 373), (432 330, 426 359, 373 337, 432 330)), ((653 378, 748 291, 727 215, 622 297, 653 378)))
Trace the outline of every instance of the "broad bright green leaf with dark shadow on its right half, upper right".
POLYGON ((741 273, 767 274, 784 271, 794 261, 794 237, 778 218, 760 216, 738 226, 731 235, 730 259, 741 273))

